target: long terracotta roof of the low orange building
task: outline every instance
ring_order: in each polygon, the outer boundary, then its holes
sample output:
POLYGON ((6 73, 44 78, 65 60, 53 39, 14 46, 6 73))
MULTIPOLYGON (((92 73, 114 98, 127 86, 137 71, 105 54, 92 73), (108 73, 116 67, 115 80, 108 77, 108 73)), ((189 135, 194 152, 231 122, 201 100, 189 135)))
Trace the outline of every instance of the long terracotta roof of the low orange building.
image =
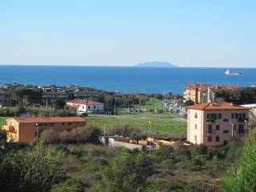
POLYGON ((36 123, 36 122, 86 122, 84 118, 79 117, 51 117, 51 118, 14 118, 19 123, 36 123))

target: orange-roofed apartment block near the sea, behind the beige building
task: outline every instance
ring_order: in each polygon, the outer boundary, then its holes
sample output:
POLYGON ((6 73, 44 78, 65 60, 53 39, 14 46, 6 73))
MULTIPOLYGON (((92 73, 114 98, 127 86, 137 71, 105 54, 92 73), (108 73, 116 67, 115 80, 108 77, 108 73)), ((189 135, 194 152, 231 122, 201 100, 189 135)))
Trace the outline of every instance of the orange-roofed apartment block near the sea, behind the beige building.
POLYGON ((242 86, 214 86, 210 84, 189 83, 186 85, 183 98, 185 101, 191 100, 194 103, 203 103, 208 102, 208 89, 214 92, 216 90, 234 90, 239 88, 242 88, 242 86))

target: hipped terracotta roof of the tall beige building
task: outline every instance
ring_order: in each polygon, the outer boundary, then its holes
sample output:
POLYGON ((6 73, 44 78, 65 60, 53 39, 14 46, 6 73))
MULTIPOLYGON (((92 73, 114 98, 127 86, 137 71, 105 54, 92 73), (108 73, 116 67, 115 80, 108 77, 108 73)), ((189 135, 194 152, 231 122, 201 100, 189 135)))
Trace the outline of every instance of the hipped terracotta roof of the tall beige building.
POLYGON ((187 106, 190 110, 249 110, 244 106, 232 104, 230 102, 205 102, 202 104, 187 106))

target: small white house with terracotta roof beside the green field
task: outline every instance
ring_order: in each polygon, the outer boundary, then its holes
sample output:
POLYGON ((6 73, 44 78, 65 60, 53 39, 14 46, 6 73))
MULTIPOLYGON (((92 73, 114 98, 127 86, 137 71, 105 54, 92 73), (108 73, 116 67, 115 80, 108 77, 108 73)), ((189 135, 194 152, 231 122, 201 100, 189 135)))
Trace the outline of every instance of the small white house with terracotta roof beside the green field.
POLYGON ((76 108, 78 110, 78 113, 101 113, 104 109, 104 105, 102 102, 94 102, 87 99, 79 98, 66 101, 66 105, 76 108))

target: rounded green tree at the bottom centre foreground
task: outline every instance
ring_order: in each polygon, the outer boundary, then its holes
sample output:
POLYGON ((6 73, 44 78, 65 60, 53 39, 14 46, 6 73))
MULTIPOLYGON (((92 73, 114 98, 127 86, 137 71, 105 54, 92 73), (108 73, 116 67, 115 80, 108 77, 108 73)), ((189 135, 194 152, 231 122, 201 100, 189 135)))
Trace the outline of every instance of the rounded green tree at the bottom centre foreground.
POLYGON ((145 191, 146 180, 154 172, 152 159, 141 151, 123 151, 102 172, 95 191, 145 191))

